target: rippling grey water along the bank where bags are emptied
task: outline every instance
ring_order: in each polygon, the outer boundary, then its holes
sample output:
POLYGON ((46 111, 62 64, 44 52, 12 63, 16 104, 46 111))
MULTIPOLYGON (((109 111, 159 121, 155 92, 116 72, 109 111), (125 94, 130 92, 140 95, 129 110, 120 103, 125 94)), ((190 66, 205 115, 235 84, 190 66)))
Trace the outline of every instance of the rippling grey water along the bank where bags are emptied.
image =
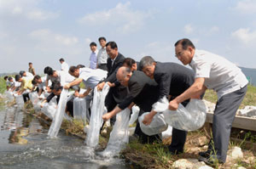
POLYGON ((133 168, 118 158, 101 158, 84 140, 66 136, 48 138, 44 121, 13 108, 0 110, 0 168, 133 168))

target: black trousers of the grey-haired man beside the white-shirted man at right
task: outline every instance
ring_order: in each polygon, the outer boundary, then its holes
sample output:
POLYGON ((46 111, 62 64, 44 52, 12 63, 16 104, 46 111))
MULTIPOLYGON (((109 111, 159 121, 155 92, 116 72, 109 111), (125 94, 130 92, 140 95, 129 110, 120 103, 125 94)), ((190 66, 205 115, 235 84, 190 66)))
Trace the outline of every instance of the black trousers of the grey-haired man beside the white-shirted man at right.
MULTIPOLYGON (((173 97, 172 99, 174 98, 175 97, 173 97)), ((185 107, 187 104, 189 104, 189 100, 183 101, 182 104, 185 107)), ((178 130, 172 127, 172 143, 168 147, 169 151, 173 154, 183 153, 186 138, 187 138, 186 131, 178 130)))

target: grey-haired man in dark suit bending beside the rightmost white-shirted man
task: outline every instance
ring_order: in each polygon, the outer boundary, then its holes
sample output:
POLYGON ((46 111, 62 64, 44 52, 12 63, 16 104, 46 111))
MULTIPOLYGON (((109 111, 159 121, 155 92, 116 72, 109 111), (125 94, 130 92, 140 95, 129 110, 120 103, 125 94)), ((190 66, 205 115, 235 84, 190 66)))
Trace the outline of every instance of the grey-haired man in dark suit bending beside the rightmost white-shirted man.
MULTIPOLYGON (((158 83, 159 95, 155 96, 158 97, 158 100, 164 97, 169 100, 175 99, 194 82, 194 72, 189 68, 176 63, 156 62, 151 56, 141 59, 140 68, 148 77, 158 83)), ((189 99, 182 102, 184 107, 188 103, 189 99)), ((156 113, 151 110, 148 115, 145 115, 143 123, 149 125, 156 113)), ((186 131, 172 128, 172 144, 168 147, 172 155, 183 153, 186 136, 186 131)))

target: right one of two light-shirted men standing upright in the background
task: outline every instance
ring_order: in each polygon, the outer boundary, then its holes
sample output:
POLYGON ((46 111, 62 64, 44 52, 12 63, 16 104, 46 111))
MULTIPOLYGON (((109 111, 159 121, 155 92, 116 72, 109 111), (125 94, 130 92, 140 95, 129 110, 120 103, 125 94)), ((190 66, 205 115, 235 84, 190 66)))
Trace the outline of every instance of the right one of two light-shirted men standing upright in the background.
POLYGON ((108 57, 108 54, 106 51, 106 43, 107 43, 106 38, 100 37, 99 42, 100 42, 100 45, 102 46, 102 48, 99 50, 99 52, 97 54, 97 68, 102 69, 102 70, 108 70, 107 59, 109 57, 108 57))

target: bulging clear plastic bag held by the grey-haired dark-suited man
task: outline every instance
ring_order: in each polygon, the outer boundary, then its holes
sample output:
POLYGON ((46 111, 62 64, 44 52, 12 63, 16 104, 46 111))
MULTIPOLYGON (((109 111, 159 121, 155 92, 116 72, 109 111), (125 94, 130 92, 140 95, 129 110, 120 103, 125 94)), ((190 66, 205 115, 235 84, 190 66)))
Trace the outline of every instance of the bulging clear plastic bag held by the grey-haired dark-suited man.
POLYGON ((158 134, 160 132, 166 131, 168 125, 166 124, 164 115, 162 115, 160 113, 157 113, 156 115, 154 115, 153 120, 151 121, 151 123, 149 125, 143 124, 145 115, 148 115, 149 113, 150 112, 143 113, 143 115, 141 115, 138 118, 138 121, 140 123, 140 127, 141 127, 142 131, 145 134, 147 134, 148 136, 152 136, 154 134, 158 134))

